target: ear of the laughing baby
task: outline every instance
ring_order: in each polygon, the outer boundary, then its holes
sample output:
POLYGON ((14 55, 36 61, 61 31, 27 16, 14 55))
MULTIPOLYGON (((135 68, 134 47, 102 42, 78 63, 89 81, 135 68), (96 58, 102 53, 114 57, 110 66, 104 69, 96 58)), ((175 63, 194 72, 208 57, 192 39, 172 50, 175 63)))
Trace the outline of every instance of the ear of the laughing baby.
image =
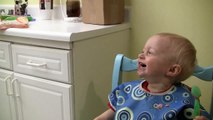
POLYGON ((180 74, 181 70, 182 69, 179 64, 174 64, 174 65, 170 66, 166 75, 169 77, 175 77, 180 74))

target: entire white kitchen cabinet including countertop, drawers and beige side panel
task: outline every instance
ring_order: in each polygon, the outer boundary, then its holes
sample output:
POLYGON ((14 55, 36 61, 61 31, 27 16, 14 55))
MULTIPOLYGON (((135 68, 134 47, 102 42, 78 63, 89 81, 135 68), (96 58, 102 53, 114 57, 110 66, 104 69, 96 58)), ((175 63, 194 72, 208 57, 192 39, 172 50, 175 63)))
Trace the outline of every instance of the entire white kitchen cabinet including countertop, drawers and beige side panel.
POLYGON ((92 120, 107 109, 114 57, 128 46, 128 23, 36 20, 0 31, 0 69, 11 74, 0 80, 0 120, 92 120))

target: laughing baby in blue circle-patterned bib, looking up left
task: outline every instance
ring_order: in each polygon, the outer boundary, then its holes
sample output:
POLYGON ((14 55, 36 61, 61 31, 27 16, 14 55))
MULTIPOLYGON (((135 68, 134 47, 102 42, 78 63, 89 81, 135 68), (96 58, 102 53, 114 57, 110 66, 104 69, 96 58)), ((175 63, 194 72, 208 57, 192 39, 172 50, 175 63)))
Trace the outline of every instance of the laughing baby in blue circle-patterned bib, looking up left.
POLYGON ((109 109, 95 120, 207 120, 201 107, 193 116, 194 97, 181 81, 193 73, 196 49, 176 34, 159 33, 146 42, 138 55, 142 80, 126 82, 109 95, 109 109))

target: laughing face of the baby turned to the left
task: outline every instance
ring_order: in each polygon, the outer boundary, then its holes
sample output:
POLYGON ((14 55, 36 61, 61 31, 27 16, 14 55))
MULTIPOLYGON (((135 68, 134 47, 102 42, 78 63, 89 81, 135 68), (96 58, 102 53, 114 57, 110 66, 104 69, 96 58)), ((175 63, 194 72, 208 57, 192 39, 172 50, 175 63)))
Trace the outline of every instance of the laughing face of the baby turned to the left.
POLYGON ((138 75, 143 78, 164 77, 171 62, 169 40, 153 36, 146 42, 142 53, 138 55, 138 75))

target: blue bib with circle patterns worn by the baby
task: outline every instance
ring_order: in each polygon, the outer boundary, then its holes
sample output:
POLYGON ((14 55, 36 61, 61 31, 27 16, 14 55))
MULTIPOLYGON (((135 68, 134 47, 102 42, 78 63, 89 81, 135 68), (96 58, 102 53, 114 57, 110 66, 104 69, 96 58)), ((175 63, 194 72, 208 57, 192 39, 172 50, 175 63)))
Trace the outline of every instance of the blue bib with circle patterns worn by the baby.
MULTIPOLYGON (((194 97, 184 84, 172 86, 163 93, 150 93, 142 86, 148 83, 137 80, 123 83, 108 96, 115 120, 191 120, 194 97)), ((210 115, 201 107, 201 115, 210 115)))

